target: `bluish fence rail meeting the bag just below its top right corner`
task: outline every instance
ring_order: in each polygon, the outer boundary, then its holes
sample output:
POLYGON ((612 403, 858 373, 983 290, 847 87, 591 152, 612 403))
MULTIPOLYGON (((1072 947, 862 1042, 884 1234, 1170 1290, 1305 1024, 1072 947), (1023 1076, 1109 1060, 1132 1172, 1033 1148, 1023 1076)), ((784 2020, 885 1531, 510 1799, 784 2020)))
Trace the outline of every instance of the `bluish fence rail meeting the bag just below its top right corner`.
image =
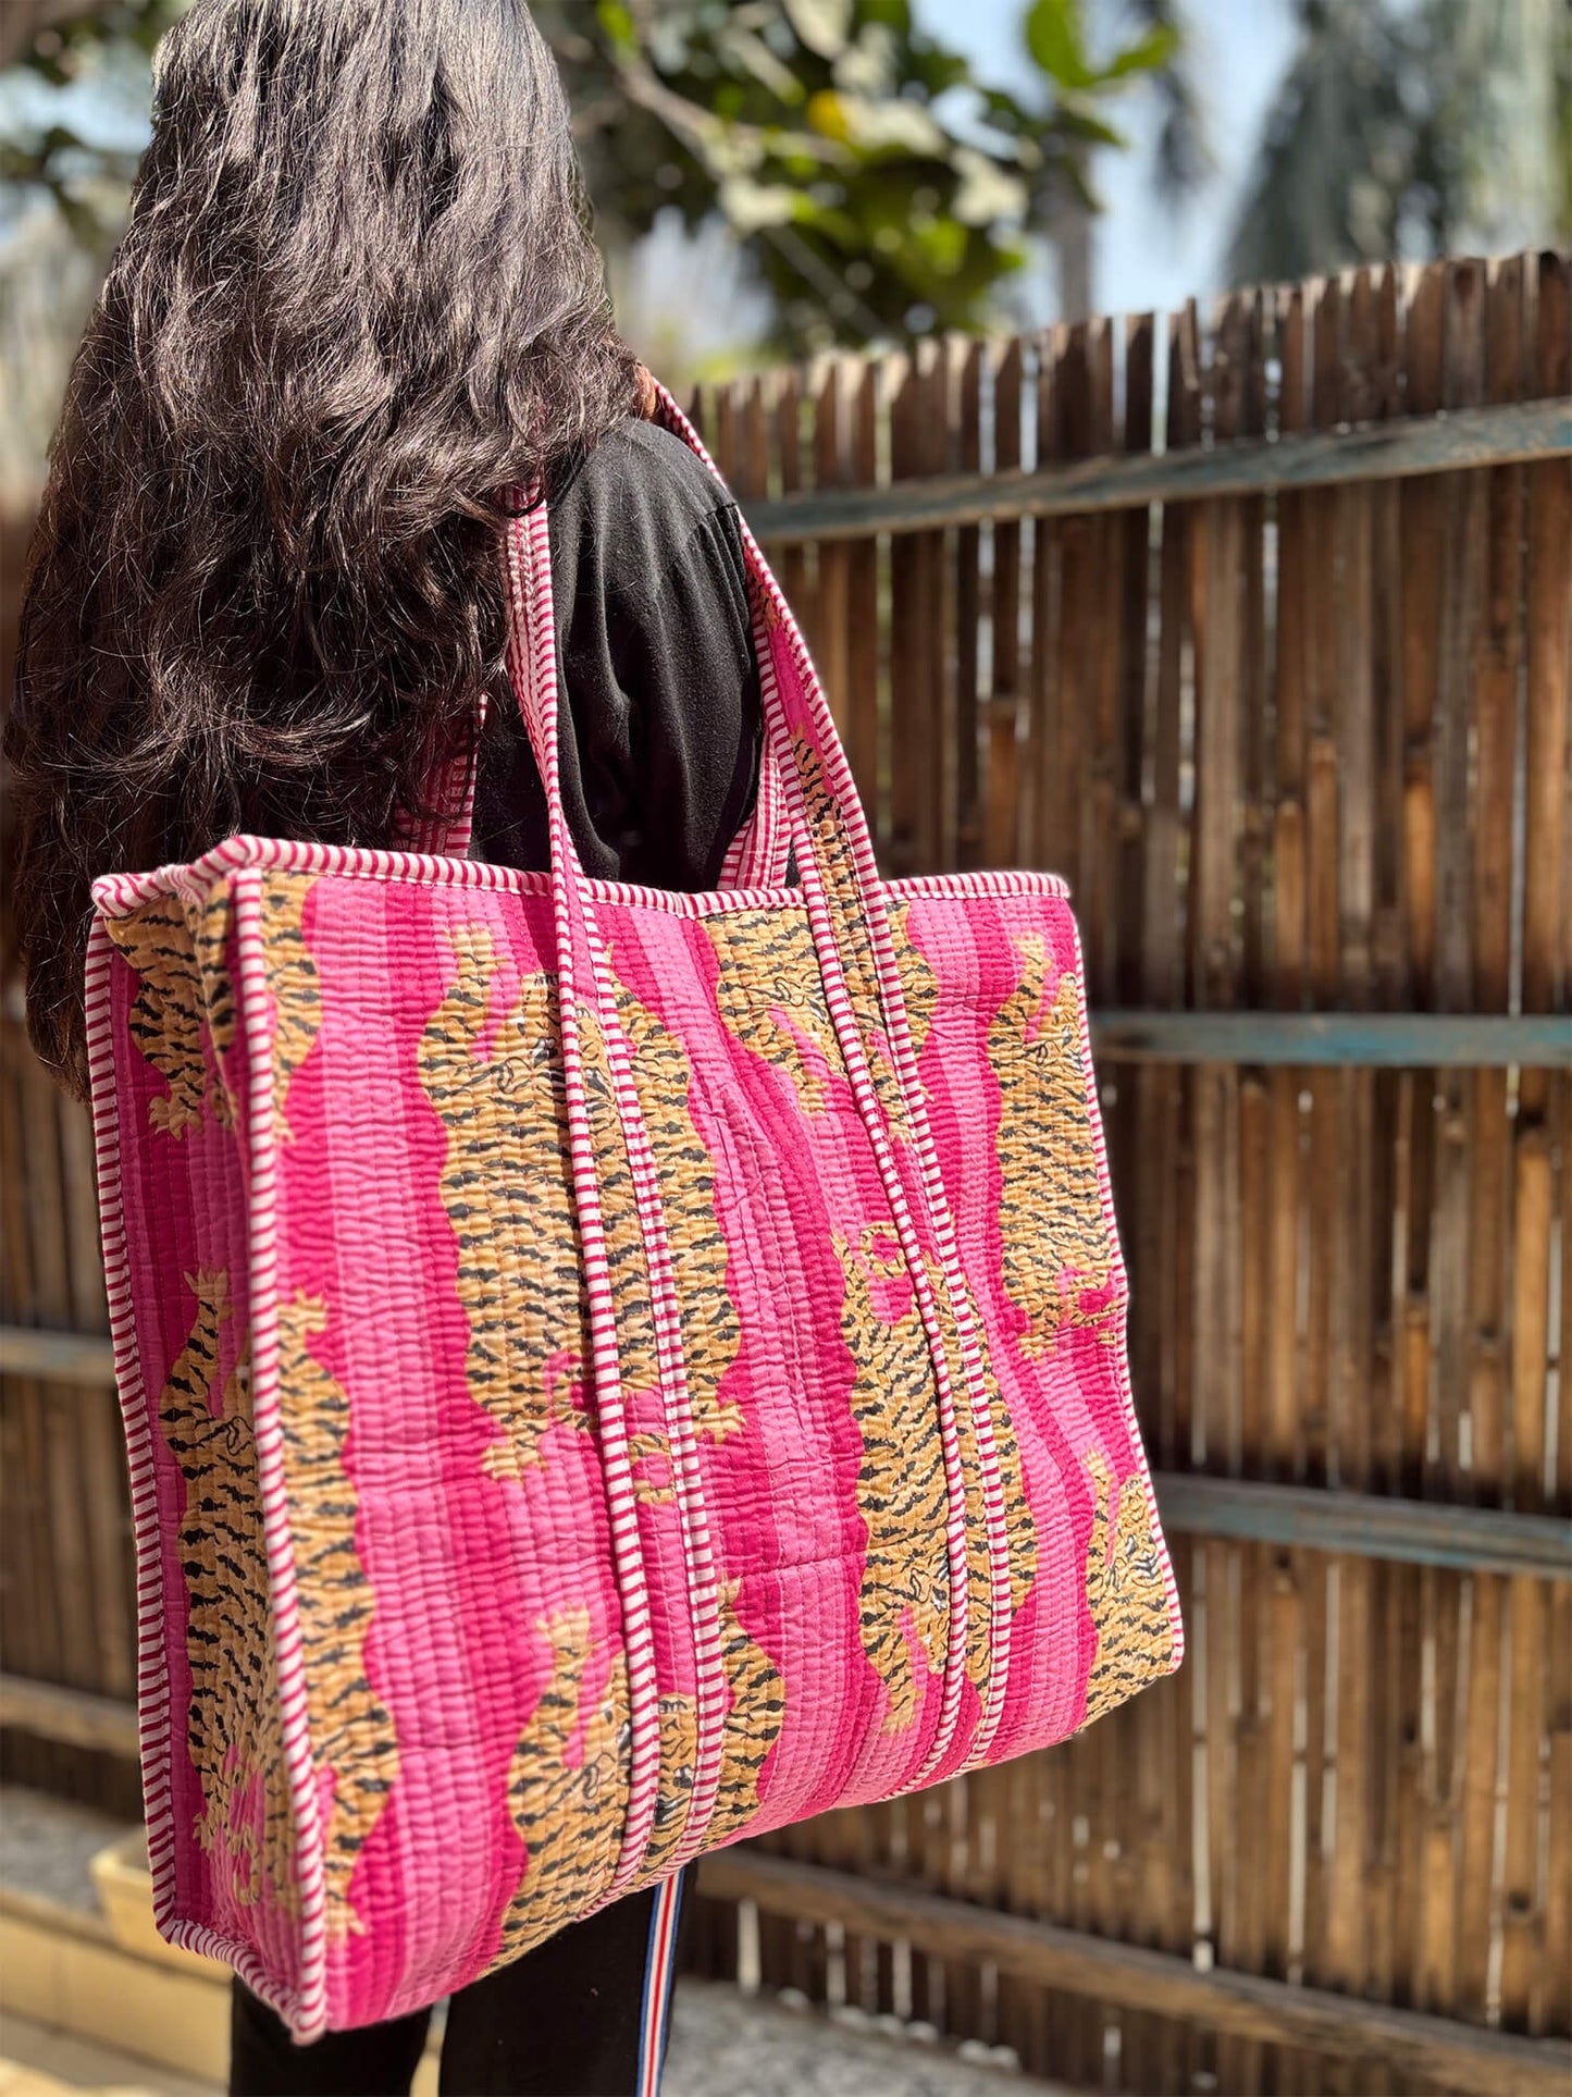
POLYGON ((1102 1011, 1092 1048, 1107 1063, 1572 1069, 1572 1013, 1102 1011))

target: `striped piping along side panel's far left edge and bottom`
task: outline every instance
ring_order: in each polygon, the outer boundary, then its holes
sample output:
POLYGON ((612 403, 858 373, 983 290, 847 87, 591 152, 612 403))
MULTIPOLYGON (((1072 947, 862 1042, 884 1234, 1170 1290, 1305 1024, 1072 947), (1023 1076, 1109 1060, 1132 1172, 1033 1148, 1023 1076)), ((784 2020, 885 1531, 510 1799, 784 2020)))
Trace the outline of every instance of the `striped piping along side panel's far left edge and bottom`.
POLYGON ((153 1921, 170 1944, 235 1967, 245 1986, 281 2017, 296 2011, 296 1992, 277 1982, 252 1944, 241 1944, 210 1923, 180 1921, 176 1904, 176 1826, 170 1791, 172 1711, 166 1657, 163 1548, 157 1514, 153 1422, 149 1418, 143 1359, 130 1290, 130 1248, 119 1172, 119 1097, 113 1051, 113 944, 103 925, 88 933, 86 1034, 92 1080, 92 1145, 99 1172, 99 1227, 103 1237, 109 1336, 115 1348, 115 1388, 126 1430, 130 1468, 132 1541, 136 1550, 136 1743, 143 1761, 143 1818, 147 1862, 153 1875, 153 1921))

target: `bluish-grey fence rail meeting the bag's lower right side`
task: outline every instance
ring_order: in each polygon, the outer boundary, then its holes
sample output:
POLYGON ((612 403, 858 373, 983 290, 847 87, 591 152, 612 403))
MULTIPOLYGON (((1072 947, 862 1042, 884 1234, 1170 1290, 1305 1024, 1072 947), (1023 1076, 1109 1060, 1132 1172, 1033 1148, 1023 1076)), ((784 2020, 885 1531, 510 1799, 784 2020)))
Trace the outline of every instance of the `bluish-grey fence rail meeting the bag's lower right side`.
POLYGON ((1388 1499, 1260 1478, 1153 1476, 1163 1527, 1176 1535, 1239 1537, 1350 1558, 1572 1579, 1572 1522, 1444 1499, 1388 1499))

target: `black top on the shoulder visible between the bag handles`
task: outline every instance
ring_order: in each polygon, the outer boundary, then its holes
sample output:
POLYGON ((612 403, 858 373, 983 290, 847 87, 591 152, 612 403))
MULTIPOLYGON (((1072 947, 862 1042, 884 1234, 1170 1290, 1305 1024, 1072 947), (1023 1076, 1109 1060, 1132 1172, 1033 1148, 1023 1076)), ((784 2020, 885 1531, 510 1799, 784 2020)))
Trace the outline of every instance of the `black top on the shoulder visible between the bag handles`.
MULTIPOLYGON (((625 421, 547 524, 562 799, 585 872, 713 889, 759 770, 736 503, 679 436, 625 421)), ((509 694, 486 709, 470 849, 501 866, 549 862, 545 793, 509 694)))

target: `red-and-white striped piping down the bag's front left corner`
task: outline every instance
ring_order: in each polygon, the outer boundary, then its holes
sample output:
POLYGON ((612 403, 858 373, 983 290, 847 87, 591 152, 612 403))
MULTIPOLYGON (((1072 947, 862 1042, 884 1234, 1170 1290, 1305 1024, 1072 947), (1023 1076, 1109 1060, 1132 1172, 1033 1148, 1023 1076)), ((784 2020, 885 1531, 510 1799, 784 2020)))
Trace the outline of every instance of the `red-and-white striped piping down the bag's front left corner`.
POLYGON ((296 1594, 296 1543, 283 1457, 279 1392, 279 1160, 272 1130, 272 994, 262 939, 262 874, 235 877, 237 1019, 245 1030, 247 1269, 252 1313, 252 1434, 262 1499, 262 1548, 272 1590, 272 1652, 279 1682, 283 1766, 296 1820, 300 1891, 300 1977, 293 2028, 314 2038, 327 2028, 327 1873, 316 1772, 306 1705, 306 1667, 296 1594))

